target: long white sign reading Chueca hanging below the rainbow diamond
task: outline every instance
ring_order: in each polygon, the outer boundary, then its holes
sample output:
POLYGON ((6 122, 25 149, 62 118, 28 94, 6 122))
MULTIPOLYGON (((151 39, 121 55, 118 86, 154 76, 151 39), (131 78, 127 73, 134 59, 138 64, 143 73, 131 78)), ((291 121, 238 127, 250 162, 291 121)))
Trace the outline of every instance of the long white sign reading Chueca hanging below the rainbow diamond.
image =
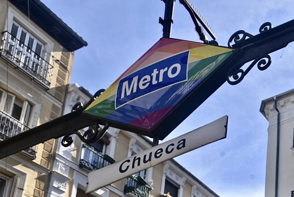
POLYGON ((222 118, 88 174, 86 194, 176 156, 226 137, 228 117, 222 118))

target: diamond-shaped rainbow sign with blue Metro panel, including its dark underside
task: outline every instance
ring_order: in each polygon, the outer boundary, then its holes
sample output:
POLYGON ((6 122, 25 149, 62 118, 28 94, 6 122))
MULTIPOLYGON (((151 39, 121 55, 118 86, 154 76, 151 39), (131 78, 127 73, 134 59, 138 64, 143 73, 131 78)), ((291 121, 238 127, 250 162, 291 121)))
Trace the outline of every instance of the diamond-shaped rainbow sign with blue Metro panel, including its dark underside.
POLYGON ((164 139, 225 81, 234 49, 161 38, 84 111, 127 131, 164 139))

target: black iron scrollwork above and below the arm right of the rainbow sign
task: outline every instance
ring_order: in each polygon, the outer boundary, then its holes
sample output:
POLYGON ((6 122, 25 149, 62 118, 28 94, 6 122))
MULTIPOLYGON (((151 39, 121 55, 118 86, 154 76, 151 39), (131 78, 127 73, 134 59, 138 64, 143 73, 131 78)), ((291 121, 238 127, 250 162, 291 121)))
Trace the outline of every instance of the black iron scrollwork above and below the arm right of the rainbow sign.
MULTIPOLYGON (((272 25, 269 22, 267 22, 267 23, 264 23, 263 25, 260 26, 259 32, 264 33, 266 31, 270 30, 271 28, 272 28, 272 25)), ((233 41, 235 44, 238 44, 238 43, 241 43, 242 41, 244 41, 246 38, 251 38, 251 37, 253 37, 253 35, 245 32, 244 30, 239 30, 239 31, 235 32, 230 37, 230 39, 228 41, 228 47, 232 48, 233 41)), ((243 78, 245 77, 245 75, 248 74, 248 72, 256 64, 257 64, 257 68, 260 71, 266 70, 267 68, 269 68, 269 66, 271 64, 270 55, 264 54, 264 55, 261 55, 261 56, 255 58, 245 71, 243 69, 241 69, 241 67, 244 64, 241 66, 237 65, 237 66, 232 67, 227 74, 227 82, 231 85, 236 85, 236 84, 240 83, 243 80, 243 78), (234 80, 231 80, 231 78, 233 78, 234 80)))

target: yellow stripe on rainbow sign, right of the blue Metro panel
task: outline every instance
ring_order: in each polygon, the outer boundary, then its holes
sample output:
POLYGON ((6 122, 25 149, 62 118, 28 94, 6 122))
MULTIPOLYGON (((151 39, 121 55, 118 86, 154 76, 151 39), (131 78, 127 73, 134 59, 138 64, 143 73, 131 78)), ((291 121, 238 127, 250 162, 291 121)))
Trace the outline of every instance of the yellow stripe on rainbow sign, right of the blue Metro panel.
POLYGON ((221 53, 225 53, 228 51, 232 51, 232 49, 215 47, 215 46, 205 46, 205 47, 197 47, 194 49, 190 49, 189 64, 192 62, 196 62, 201 59, 219 55, 221 53))

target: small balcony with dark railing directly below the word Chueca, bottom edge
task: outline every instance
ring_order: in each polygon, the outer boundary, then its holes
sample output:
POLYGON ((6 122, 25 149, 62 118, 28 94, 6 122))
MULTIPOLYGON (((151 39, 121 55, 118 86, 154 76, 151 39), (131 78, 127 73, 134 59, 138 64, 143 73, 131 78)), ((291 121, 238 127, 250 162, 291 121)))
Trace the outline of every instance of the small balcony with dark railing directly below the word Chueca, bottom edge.
POLYGON ((152 187, 141 176, 125 178, 123 193, 130 197, 150 197, 152 187))

